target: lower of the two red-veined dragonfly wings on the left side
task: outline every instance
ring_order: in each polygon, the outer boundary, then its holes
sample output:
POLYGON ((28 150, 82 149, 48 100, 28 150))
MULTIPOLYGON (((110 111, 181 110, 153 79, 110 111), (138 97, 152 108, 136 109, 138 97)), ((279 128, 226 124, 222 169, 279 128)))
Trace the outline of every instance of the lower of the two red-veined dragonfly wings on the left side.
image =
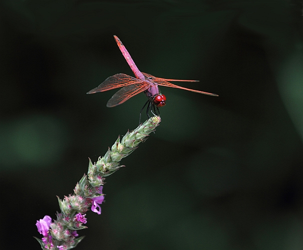
POLYGON ((125 87, 122 87, 120 90, 114 93, 112 97, 107 101, 106 106, 107 107, 114 107, 117 106, 132 96, 143 92, 149 87, 149 84, 146 84, 146 82, 141 82, 141 83, 135 83, 131 85, 127 85, 125 87))

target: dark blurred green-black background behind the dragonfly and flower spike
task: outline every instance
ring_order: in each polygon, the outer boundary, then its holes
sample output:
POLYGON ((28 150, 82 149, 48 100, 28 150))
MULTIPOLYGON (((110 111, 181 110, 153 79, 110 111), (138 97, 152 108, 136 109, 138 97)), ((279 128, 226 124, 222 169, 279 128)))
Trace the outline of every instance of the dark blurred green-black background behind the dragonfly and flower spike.
POLYGON ((219 97, 161 88, 76 249, 303 249, 302 31, 298 0, 1 0, 1 249, 39 249, 36 220, 137 126, 143 93, 85 94, 133 75, 113 34, 141 71, 219 97))

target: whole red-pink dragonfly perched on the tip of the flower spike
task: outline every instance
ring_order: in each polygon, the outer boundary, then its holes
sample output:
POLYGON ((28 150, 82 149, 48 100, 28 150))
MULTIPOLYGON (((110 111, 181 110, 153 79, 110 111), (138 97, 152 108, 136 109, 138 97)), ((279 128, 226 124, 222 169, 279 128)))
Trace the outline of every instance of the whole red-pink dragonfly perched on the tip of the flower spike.
POLYGON ((126 59, 129 67, 131 68, 133 74, 135 77, 132 77, 127 74, 118 73, 112 76, 107 77, 100 85, 97 87, 91 89, 88 91, 88 94, 96 93, 96 92, 103 92, 110 89, 122 87, 119 89, 112 97, 107 101, 106 106, 107 107, 114 107, 119 104, 122 104, 132 96, 144 92, 147 96, 148 100, 142 107, 140 111, 140 116, 143 108, 147 105, 146 114, 150 118, 148 112, 149 110, 153 115, 156 115, 155 113, 159 113, 158 107, 164 106, 166 103, 166 97, 164 94, 161 94, 158 85, 160 86, 166 86, 166 87, 175 87, 180 89, 189 90, 196 93, 202 93, 202 94, 208 94, 213 96, 218 96, 215 93, 208 93, 204 91, 199 91, 195 89, 190 89, 186 87, 181 87, 175 84, 172 84, 168 81, 191 81, 191 82, 197 82, 198 80, 177 80, 177 79, 165 79, 165 78, 159 78, 155 77, 151 74, 140 72, 140 70, 137 68, 137 66, 134 64, 130 54, 126 50, 125 46, 122 44, 120 39, 114 35, 113 36, 120 51, 122 52, 124 58, 126 59), (157 109, 157 112, 155 110, 157 109), (154 112, 153 112, 154 111, 154 112))

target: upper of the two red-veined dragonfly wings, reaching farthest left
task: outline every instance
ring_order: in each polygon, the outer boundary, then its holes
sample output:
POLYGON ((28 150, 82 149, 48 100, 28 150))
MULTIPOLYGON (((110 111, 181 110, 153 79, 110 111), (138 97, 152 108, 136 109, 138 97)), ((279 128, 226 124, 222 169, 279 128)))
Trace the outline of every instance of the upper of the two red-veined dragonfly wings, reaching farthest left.
POLYGON ((127 85, 139 83, 140 81, 140 79, 134 78, 130 75, 119 73, 107 77, 100 85, 89 90, 87 93, 90 94, 96 92, 103 92, 117 87, 124 87, 127 85))

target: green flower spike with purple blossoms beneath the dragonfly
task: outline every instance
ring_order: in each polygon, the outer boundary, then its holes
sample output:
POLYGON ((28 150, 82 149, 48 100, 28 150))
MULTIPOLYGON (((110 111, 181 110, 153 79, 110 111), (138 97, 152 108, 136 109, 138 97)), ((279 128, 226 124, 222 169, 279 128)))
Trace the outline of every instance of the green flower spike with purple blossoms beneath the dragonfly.
POLYGON ((77 237, 77 231, 86 228, 85 212, 91 211, 101 214, 100 204, 104 201, 102 188, 104 178, 123 165, 119 165, 122 158, 129 155, 137 145, 144 141, 149 133, 154 131, 159 124, 160 117, 153 116, 140 124, 136 129, 118 137, 111 148, 108 148, 103 157, 92 164, 89 159, 88 173, 83 175, 74 188, 74 193, 65 196, 62 200, 58 197, 60 212, 56 214, 56 220, 51 222, 51 217, 45 215, 37 220, 38 232, 43 235, 42 239, 36 238, 42 249, 67 250, 73 248, 84 236, 77 237))

